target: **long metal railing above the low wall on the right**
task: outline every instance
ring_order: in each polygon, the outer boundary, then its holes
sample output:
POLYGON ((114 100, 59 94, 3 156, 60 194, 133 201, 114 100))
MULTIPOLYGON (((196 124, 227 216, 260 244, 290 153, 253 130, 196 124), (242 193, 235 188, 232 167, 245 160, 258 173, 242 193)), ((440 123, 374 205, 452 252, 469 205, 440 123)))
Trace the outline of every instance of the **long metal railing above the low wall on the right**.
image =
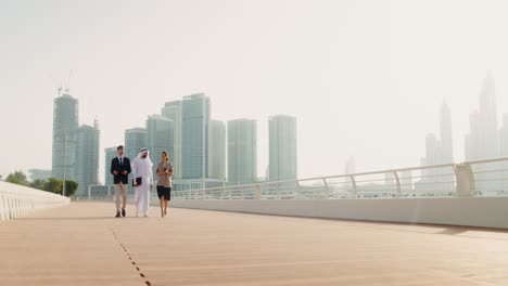
MULTIPOLYGON (((88 199, 113 200, 113 186, 88 199)), ((156 203, 155 192, 151 200, 156 203)), ((174 199, 345 199, 508 196, 508 157, 372 172, 172 191, 174 199)), ((87 199, 87 198, 84 198, 87 199)), ((134 196, 129 196, 129 202, 134 196)))

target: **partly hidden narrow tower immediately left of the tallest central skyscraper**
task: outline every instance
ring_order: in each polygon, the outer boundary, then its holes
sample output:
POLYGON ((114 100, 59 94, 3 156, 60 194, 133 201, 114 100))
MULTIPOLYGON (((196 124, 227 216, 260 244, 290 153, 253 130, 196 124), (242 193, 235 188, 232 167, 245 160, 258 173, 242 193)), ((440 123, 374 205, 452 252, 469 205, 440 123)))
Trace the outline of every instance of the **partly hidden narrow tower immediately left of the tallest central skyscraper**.
POLYGON ((161 114, 173 120, 174 140, 172 143, 173 154, 169 160, 173 162, 173 178, 181 178, 181 101, 166 102, 161 114))

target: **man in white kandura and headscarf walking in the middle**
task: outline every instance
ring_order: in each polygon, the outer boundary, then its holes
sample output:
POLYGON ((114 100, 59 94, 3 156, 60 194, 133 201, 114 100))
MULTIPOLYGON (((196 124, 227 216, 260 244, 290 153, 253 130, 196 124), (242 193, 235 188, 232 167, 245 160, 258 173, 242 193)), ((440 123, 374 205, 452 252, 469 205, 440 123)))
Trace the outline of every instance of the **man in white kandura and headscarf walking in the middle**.
POLYGON ((148 148, 142 148, 132 160, 132 185, 136 190, 136 217, 141 212, 148 217, 150 190, 153 187, 152 160, 148 148))

